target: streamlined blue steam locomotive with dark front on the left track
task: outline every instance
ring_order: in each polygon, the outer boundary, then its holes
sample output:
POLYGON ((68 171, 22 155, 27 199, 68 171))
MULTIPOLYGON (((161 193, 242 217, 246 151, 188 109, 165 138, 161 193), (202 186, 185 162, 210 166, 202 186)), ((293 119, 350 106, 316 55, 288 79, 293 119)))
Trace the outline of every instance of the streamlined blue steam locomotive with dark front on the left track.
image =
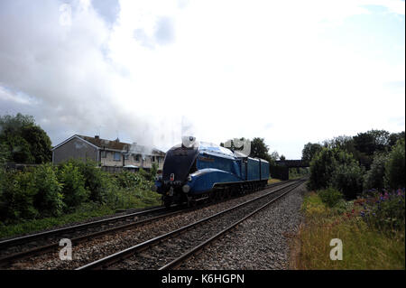
MULTIPOLYGON (((191 139, 191 138, 190 138, 191 139)), ((165 156, 155 190, 166 207, 201 200, 220 200, 265 187, 269 163, 237 151, 202 142, 173 146, 165 156)))

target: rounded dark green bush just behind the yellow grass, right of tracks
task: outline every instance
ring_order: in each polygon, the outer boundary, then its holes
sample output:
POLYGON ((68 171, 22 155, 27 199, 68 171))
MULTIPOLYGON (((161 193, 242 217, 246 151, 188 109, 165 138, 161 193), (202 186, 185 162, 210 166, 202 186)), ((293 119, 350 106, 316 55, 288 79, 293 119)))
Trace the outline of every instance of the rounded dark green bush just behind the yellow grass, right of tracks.
POLYGON ((340 164, 331 175, 330 184, 341 191, 346 199, 355 199, 363 191, 364 169, 357 163, 340 164))

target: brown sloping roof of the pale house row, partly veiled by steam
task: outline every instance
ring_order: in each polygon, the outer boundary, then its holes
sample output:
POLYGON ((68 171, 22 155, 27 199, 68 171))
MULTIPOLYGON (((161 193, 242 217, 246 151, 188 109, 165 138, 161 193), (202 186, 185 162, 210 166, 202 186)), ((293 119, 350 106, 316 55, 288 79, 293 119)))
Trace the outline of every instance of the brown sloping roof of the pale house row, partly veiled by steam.
POLYGON ((86 135, 73 135, 69 137, 69 139, 65 140, 61 144, 56 145, 52 150, 56 149, 62 144, 67 143, 70 139, 78 137, 88 144, 92 144, 93 146, 96 146, 98 149, 102 150, 113 150, 113 151, 118 151, 118 152, 123 152, 127 151, 129 153, 141 153, 141 154, 158 154, 158 155, 164 155, 161 150, 158 150, 156 148, 151 148, 139 144, 129 144, 125 142, 120 142, 118 139, 116 140, 107 140, 107 139, 102 139, 99 137, 89 137, 86 135))

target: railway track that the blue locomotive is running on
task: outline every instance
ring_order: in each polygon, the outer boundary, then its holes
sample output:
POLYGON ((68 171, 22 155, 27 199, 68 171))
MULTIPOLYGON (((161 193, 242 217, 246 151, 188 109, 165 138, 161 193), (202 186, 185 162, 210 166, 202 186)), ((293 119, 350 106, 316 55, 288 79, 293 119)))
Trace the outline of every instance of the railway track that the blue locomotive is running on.
MULTIPOLYGON (((271 184, 268 188, 277 187, 290 181, 282 181, 271 184)), ((105 218, 88 223, 78 224, 67 228, 58 228, 27 235, 14 237, 0 241, 0 267, 5 267, 16 260, 28 258, 32 255, 42 254, 60 248, 60 238, 69 238, 72 245, 86 242, 95 237, 115 233, 121 230, 140 227, 158 221, 161 218, 170 218, 181 213, 187 213, 192 209, 177 209, 168 211, 165 208, 155 208, 125 215, 105 218)))

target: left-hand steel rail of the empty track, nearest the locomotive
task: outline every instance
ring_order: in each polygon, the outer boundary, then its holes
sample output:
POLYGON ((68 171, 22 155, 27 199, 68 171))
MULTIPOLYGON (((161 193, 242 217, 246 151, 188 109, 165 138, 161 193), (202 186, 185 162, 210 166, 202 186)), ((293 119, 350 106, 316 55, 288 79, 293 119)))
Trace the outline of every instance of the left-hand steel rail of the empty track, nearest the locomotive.
POLYGON ((198 220, 198 221, 196 221, 194 223, 191 223, 189 225, 186 225, 186 226, 184 226, 182 228, 178 228, 178 229, 173 230, 173 231, 171 231, 169 233, 163 234, 163 235, 161 235, 159 237, 153 237, 152 239, 149 239, 147 241, 139 243, 139 244, 137 244, 135 246, 130 246, 130 247, 124 249, 124 250, 116 252, 115 254, 108 255, 106 257, 103 257, 103 258, 98 259, 96 261, 93 261, 91 263, 88 263, 87 265, 82 265, 82 266, 76 268, 75 270, 97 269, 97 268, 106 267, 108 265, 112 265, 112 264, 114 264, 114 263, 116 263, 116 262, 118 262, 118 261, 120 261, 122 259, 125 259, 126 257, 129 257, 129 256, 133 255, 135 252, 141 252, 141 251, 147 249, 148 247, 154 246, 155 244, 160 243, 160 242, 162 242, 162 241, 164 241, 164 240, 166 240, 168 238, 178 236, 181 233, 183 233, 183 232, 185 232, 185 231, 187 231, 189 229, 196 228, 196 227, 198 227, 198 225, 201 225, 201 224, 207 222, 210 219, 217 218, 217 217, 219 217, 221 215, 226 214, 227 212, 230 212, 232 210, 235 210, 235 209, 238 209, 240 207, 246 206, 246 205, 248 205, 248 204, 250 204, 250 203, 252 203, 252 202, 254 202, 256 200, 263 199, 264 197, 267 197, 267 196, 269 196, 269 195, 271 195, 271 194, 273 194, 273 193, 275 193, 277 191, 280 191, 280 190, 289 188, 291 186, 294 186, 295 184, 296 184, 296 182, 293 182, 292 184, 288 184, 286 186, 283 186, 280 189, 272 190, 271 192, 266 193, 266 194, 264 194, 262 196, 258 196, 256 198, 254 198, 253 200, 247 200, 247 201, 245 201, 243 203, 235 205, 232 208, 223 210, 221 212, 217 212, 214 215, 211 215, 211 216, 209 216, 207 218, 200 219, 200 220, 198 220))

